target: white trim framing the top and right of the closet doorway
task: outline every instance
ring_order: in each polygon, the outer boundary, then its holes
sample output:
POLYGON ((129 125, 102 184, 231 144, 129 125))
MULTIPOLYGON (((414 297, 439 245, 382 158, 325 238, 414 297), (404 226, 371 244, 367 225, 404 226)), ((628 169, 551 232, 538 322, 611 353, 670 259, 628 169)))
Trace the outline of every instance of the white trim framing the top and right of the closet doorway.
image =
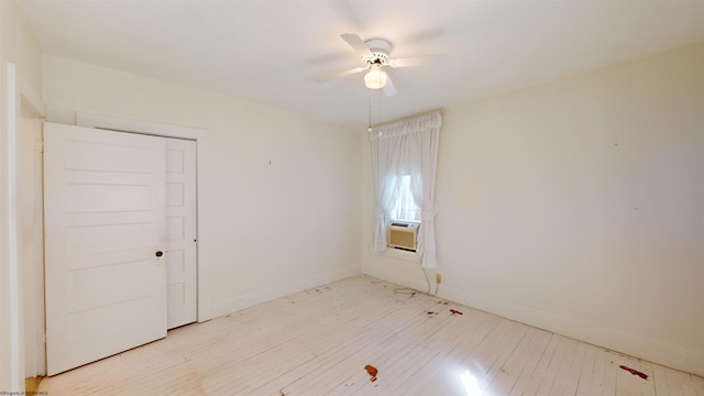
POLYGON ((164 124, 158 122, 132 120, 120 117, 91 114, 76 112, 76 125, 88 128, 105 128, 124 132, 139 132, 151 135, 190 139, 197 145, 197 178, 198 178, 198 321, 207 321, 212 318, 210 304, 210 282, 208 243, 208 130, 194 127, 164 124))

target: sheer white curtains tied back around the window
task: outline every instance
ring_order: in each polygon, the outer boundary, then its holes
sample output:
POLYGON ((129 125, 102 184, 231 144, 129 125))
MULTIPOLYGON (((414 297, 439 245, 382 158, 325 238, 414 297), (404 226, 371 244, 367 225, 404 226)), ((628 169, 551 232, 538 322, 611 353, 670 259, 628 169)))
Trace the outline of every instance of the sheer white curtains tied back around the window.
POLYGON ((396 199, 402 168, 408 168, 414 201, 420 208, 421 226, 418 249, 422 266, 438 266, 436 252, 435 201, 438 142, 442 117, 440 112, 381 127, 372 132, 372 161, 376 180, 376 224, 372 251, 386 250, 391 210, 396 199))

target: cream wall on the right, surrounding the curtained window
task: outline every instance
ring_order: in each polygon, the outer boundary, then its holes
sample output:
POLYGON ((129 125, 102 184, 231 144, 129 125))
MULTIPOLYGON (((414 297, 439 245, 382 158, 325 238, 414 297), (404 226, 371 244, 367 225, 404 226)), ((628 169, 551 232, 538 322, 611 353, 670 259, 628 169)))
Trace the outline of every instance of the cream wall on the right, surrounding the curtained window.
MULTIPOLYGON (((704 375, 704 42, 443 121, 440 296, 704 375)), ((426 289, 408 262, 363 272, 426 289)))

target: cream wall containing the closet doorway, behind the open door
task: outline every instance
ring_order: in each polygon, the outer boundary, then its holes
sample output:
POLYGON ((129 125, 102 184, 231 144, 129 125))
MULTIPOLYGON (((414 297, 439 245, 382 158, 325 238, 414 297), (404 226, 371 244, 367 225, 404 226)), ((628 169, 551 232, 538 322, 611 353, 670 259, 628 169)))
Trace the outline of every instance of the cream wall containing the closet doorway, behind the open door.
POLYGON ((52 122, 86 111, 209 130, 215 316, 360 273, 364 132, 51 56, 44 99, 52 122))

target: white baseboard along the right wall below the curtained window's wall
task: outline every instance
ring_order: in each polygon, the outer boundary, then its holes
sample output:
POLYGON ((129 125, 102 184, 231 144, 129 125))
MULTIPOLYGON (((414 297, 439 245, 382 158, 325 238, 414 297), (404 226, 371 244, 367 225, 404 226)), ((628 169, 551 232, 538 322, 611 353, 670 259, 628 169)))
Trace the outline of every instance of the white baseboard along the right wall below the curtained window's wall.
POLYGON ((689 350, 537 308, 441 285, 438 296, 605 349, 704 376, 704 351, 689 350))

